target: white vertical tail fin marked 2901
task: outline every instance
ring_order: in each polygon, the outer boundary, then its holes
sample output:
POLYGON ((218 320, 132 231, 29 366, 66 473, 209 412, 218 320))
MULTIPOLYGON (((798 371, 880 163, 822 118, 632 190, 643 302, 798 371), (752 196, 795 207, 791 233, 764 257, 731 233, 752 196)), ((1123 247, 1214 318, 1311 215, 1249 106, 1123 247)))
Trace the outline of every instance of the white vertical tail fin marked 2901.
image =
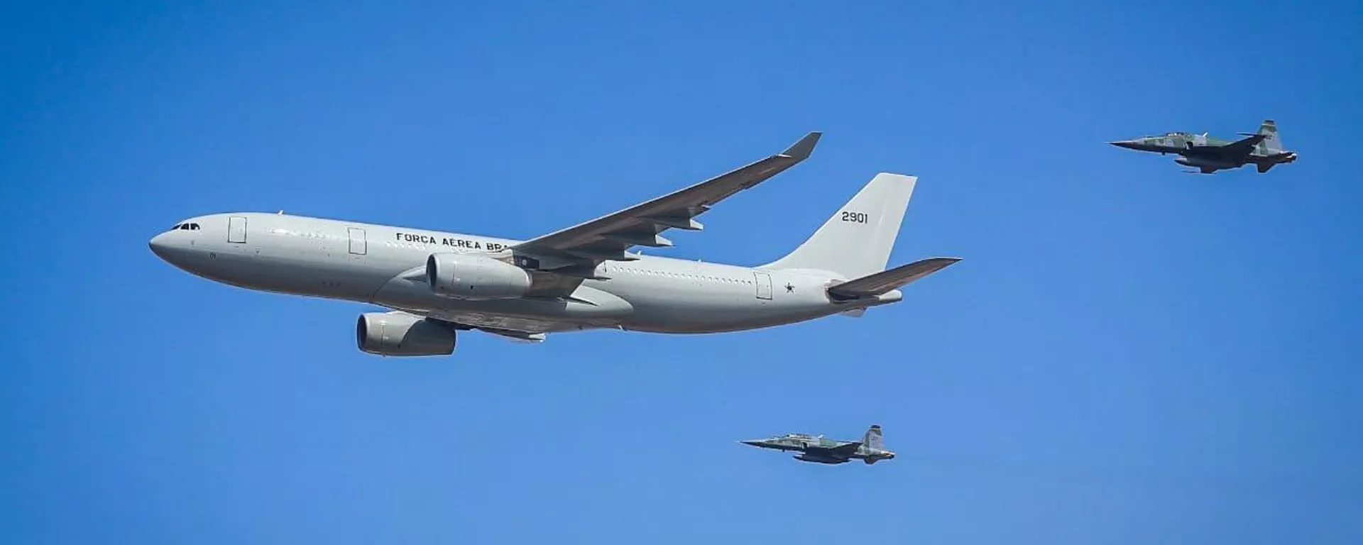
POLYGON ((762 268, 812 268, 866 277, 885 270, 916 176, 882 172, 793 252, 762 268))

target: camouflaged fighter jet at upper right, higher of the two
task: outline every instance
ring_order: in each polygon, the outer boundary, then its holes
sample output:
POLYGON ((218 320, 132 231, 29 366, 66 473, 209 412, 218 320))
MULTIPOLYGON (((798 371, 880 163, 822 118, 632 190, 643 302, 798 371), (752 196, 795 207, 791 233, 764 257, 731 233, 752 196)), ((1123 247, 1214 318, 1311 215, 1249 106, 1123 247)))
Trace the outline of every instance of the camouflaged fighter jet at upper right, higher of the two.
POLYGON ((1231 142, 1210 138, 1206 132, 1201 135, 1169 132, 1163 136, 1144 136, 1108 143, 1137 151, 1159 151, 1161 155, 1178 154, 1179 157, 1174 162, 1195 168, 1197 170, 1184 170, 1194 174, 1210 174, 1250 164, 1257 166, 1262 174, 1274 165, 1296 161, 1296 151, 1283 149, 1283 139, 1278 138, 1277 124, 1273 120, 1264 120, 1259 132, 1253 135, 1240 132, 1240 136, 1244 138, 1231 142))

